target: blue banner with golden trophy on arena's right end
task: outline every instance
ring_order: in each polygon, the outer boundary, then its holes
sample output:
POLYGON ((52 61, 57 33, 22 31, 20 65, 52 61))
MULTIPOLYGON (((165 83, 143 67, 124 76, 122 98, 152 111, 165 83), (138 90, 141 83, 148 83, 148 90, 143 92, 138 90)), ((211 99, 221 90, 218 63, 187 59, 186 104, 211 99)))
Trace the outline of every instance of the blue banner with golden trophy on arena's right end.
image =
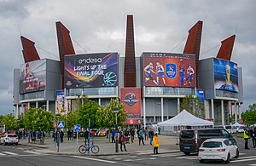
POLYGON ((237 64, 229 60, 213 59, 214 89, 238 92, 237 64))

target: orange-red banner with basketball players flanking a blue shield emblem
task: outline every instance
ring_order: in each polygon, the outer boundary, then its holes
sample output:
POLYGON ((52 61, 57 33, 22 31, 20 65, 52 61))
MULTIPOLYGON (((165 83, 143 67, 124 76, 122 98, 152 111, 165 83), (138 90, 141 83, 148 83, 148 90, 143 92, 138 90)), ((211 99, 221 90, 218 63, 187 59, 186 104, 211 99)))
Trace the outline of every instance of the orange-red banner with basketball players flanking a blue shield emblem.
POLYGON ((144 86, 195 87, 195 55, 143 53, 144 86))

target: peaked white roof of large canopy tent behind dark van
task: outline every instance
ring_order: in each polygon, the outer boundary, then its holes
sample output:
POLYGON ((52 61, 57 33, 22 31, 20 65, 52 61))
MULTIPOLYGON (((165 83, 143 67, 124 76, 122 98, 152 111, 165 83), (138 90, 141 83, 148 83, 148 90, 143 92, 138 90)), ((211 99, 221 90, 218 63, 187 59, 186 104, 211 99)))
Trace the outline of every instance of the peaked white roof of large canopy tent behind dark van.
POLYGON ((183 110, 177 116, 164 122, 158 123, 159 126, 212 126, 213 122, 195 117, 186 110, 183 110))

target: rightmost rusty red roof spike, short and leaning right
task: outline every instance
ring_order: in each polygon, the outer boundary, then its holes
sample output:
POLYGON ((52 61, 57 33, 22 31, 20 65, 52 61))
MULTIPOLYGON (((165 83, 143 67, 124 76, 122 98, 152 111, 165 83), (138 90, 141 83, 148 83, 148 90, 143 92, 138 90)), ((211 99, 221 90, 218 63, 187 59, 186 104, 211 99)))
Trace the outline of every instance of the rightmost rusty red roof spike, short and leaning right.
POLYGON ((228 37, 221 42, 220 49, 218 50, 217 58, 223 60, 231 60, 231 54, 234 47, 236 35, 228 37))

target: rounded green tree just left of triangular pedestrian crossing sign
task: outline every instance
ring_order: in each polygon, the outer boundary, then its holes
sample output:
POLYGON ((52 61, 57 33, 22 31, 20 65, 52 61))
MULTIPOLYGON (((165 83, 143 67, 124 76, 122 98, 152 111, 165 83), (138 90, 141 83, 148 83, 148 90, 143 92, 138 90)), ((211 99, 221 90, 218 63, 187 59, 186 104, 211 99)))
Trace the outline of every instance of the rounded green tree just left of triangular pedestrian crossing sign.
POLYGON ((42 108, 29 108, 24 117, 25 128, 34 131, 49 131, 54 121, 53 113, 42 108))

